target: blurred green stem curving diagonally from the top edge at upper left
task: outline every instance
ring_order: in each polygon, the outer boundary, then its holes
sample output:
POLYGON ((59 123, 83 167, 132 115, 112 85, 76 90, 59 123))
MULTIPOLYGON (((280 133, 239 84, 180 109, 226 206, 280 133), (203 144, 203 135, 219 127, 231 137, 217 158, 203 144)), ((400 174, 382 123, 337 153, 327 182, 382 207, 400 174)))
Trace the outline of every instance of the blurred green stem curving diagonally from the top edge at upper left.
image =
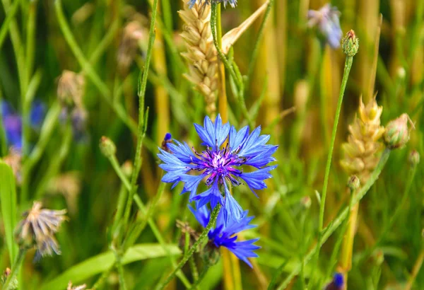
POLYGON ((78 63, 80 64, 83 71, 86 72, 88 78, 93 82, 93 84, 98 88, 100 91, 100 95, 105 100, 105 102, 110 105, 112 110, 117 114, 119 119, 126 124, 126 126, 131 129, 131 132, 134 134, 137 133, 137 126, 128 115, 126 115, 125 110, 122 108, 122 105, 119 103, 113 103, 112 102, 112 93, 110 92, 110 89, 107 87, 107 85, 100 79, 100 76, 95 72, 95 69, 93 69, 93 66, 88 62, 86 57, 84 57, 83 52, 81 51, 81 48, 78 47, 78 44, 76 43, 75 38, 72 35, 71 29, 69 28, 68 23, 66 23, 66 19, 64 16, 64 11, 61 7, 61 0, 55 0, 54 1, 54 9, 56 11, 57 20, 59 22, 59 27, 64 34, 65 40, 68 43, 69 47, 71 47, 71 50, 73 54, 75 55, 78 63))

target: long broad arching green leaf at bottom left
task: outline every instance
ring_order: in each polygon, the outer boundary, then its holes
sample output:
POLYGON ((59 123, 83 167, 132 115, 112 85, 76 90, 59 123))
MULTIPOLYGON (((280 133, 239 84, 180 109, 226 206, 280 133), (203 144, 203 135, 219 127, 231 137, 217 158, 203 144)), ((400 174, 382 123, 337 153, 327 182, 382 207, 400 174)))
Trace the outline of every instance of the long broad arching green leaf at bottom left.
MULTIPOLYGON (((177 245, 167 245, 166 250, 159 244, 139 244, 129 248, 124 257, 122 257, 122 264, 126 265, 131 262, 139 260, 152 259, 155 257, 166 257, 168 255, 180 255, 181 251, 177 245)), ((109 250, 67 269, 59 277, 52 279, 40 287, 42 290, 49 289, 66 289, 69 281, 73 284, 79 284, 84 280, 110 269, 115 262, 114 253, 109 250)))

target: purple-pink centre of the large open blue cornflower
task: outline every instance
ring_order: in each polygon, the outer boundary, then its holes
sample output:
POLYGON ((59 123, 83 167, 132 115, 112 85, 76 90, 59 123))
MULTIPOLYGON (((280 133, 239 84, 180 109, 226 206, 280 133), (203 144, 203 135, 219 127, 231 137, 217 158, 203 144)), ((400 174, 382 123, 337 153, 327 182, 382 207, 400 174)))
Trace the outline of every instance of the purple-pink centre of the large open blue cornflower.
POLYGON ((202 153, 195 152, 199 160, 193 161, 197 166, 194 170, 203 171, 210 175, 206 180, 206 185, 212 185, 217 179, 218 184, 222 185, 224 179, 230 180, 232 185, 240 185, 236 179, 242 171, 234 166, 242 166, 247 158, 237 156, 237 151, 231 151, 228 144, 221 150, 207 148, 202 153))

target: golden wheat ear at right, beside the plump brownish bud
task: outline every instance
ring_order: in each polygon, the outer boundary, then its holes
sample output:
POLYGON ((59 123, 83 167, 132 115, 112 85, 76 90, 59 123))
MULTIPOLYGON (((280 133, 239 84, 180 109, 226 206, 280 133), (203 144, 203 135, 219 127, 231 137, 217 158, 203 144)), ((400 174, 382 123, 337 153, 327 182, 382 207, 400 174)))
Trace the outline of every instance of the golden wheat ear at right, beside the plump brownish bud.
POLYGON ((362 184, 367 182, 372 170, 379 161, 379 153, 383 148, 379 139, 384 134, 380 126, 383 108, 377 105, 375 98, 366 106, 360 99, 358 116, 349 126, 348 142, 342 145, 343 159, 341 166, 349 175, 356 175, 362 184))

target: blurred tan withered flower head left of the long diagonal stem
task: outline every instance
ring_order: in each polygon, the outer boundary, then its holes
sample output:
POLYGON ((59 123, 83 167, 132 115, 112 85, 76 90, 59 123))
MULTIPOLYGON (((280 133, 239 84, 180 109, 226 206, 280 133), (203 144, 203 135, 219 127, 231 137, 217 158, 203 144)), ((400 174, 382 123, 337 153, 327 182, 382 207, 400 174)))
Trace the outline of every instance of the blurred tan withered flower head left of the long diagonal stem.
POLYGON ((64 70, 57 84, 57 97, 64 108, 82 105, 85 79, 83 75, 64 70))

